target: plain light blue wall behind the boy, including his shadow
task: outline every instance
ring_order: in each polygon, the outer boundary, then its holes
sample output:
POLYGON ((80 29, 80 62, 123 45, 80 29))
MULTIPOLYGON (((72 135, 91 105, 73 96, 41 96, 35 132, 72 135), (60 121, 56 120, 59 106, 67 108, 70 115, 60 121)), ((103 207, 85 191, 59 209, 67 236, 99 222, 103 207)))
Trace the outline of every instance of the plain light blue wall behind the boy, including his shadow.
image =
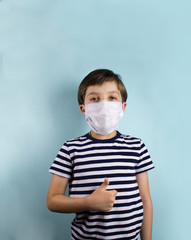
POLYGON ((122 76, 119 130, 156 166, 153 240, 189 238, 190 12, 189 0, 0 1, 0 239, 70 239, 73 215, 46 208, 48 169, 88 131, 76 94, 96 68, 122 76))

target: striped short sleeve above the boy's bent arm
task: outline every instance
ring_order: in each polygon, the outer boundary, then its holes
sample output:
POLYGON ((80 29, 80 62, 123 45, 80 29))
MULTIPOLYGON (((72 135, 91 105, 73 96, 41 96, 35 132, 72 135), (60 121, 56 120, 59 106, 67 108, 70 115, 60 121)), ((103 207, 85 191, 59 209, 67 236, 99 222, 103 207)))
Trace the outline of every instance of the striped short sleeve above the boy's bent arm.
POLYGON ((72 176, 72 163, 68 150, 67 143, 63 144, 58 152, 53 164, 51 165, 49 172, 59 175, 65 178, 71 178, 72 176))

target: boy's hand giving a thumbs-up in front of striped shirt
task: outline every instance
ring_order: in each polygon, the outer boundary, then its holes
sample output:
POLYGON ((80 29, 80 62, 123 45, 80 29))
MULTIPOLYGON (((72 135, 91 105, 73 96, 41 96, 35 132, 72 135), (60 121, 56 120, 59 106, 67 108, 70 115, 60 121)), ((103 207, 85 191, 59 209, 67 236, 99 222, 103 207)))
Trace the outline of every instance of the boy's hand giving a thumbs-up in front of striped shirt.
POLYGON ((90 203, 90 210, 109 211, 113 208, 116 190, 107 191, 106 187, 109 185, 108 178, 99 186, 91 195, 88 196, 90 203))

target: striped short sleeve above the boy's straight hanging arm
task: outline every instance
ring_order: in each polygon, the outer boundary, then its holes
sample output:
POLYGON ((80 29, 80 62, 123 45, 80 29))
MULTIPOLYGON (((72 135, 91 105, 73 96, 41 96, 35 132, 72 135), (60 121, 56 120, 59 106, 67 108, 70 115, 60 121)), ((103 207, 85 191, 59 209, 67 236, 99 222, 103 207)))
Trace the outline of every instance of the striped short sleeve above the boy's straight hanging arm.
POLYGON ((139 161, 135 167, 136 174, 146 172, 154 168, 153 162, 149 155, 149 152, 145 146, 145 144, 140 140, 139 145, 139 161))

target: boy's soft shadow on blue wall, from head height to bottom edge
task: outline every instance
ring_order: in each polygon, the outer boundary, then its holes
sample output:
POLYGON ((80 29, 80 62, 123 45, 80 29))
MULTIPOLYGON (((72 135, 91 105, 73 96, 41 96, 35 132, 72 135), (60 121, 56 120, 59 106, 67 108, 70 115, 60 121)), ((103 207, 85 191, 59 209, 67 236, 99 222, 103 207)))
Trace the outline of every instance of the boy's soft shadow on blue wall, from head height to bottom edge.
MULTIPOLYGON (((44 161, 42 164, 41 170, 44 171, 45 175, 43 180, 40 180, 39 177, 41 189, 38 189, 35 193, 35 195, 38 195, 38 192, 43 194, 41 195, 41 207, 43 207, 43 211, 39 209, 38 219, 41 219, 41 226, 43 226, 41 230, 41 236, 43 235, 43 237, 41 239, 70 239, 70 225, 74 214, 52 213, 46 208, 46 194, 52 178, 52 175, 48 173, 48 169, 60 147, 66 140, 86 133, 84 131, 84 129, 86 129, 86 122, 79 110, 77 101, 78 86, 74 86, 72 81, 69 81, 68 83, 64 82, 63 84, 55 86, 53 89, 50 89, 50 91, 47 105, 48 118, 51 122, 50 126, 52 126, 51 135, 53 136, 51 140, 48 141, 48 148, 51 149, 51 151, 48 152, 51 157, 47 154, 47 146, 43 150, 44 153, 42 153, 42 155, 47 155, 46 159, 51 159, 48 163, 44 161)), ((66 194, 68 194, 68 189, 66 194)))

